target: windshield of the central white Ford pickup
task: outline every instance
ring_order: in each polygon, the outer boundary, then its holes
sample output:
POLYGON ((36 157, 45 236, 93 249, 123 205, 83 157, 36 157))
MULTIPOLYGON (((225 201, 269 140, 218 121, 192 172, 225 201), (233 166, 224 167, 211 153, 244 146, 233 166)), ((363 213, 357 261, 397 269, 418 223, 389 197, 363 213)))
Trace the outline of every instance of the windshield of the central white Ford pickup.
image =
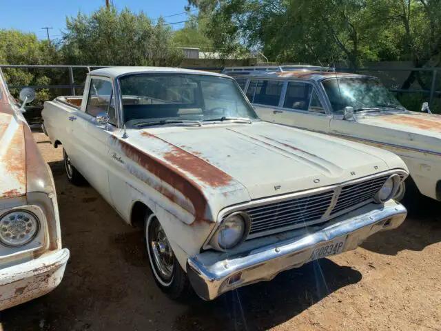
POLYGON ((124 123, 258 119, 233 79, 203 74, 121 77, 124 123))

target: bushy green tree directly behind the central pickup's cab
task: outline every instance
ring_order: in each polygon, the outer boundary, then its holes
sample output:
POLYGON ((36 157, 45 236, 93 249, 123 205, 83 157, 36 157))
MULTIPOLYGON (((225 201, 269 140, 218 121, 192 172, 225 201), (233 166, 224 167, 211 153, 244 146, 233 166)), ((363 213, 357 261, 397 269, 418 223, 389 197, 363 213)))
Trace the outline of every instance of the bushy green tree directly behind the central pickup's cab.
POLYGON ((172 29, 143 13, 102 7, 66 19, 61 52, 66 63, 93 66, 178 66, 183 54, 172 29))

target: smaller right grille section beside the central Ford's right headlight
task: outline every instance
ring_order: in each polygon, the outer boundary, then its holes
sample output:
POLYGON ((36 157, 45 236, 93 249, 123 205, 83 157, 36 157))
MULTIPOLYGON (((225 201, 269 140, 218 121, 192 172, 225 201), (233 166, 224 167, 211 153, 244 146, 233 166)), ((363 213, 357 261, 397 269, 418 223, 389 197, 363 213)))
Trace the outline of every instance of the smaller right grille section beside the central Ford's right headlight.
POLYGON ((358 203, 370 201, 389 176, 377 177, 369 181, 344 186, 331 215, 351 208, 353 205, 358 205, 358 203))

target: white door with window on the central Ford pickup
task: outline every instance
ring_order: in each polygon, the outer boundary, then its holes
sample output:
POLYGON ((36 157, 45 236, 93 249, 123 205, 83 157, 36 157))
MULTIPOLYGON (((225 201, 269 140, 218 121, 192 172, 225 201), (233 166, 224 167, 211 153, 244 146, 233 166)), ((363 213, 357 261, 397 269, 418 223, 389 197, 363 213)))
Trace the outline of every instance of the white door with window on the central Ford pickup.
POLYGON ((113 91, 110 79, 90 79, 87 103, 76 112, 72 134, 76 168, 109 203, 112 203, 108 180, 110 135, 116 130, 113 91), (108 115, 109 123, 98 123, 96 116, 100 113, 108 115))

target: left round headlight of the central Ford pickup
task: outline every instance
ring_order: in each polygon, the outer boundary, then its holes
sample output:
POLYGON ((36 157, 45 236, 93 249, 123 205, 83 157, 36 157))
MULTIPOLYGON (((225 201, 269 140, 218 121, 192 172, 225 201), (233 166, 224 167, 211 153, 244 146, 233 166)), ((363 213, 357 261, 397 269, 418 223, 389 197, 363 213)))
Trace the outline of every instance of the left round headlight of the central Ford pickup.
POLYGON ((232 214, 220 225, 215 235, 215 246, 231 250, 245 238, 247 223, 241 214, 232 214))

